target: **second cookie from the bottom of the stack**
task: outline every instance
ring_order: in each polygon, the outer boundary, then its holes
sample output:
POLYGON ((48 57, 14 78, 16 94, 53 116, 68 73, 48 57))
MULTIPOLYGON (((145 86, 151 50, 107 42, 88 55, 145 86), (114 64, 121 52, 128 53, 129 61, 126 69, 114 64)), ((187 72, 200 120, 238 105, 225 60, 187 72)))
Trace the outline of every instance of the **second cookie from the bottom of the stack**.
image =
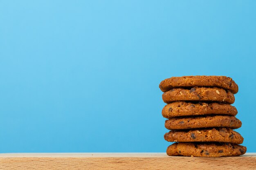
POLYGON ((164 135, 171 142, 223 142, 242 144, 244 138, 231 128, 212 128, 198 130, 171 130, 164 135))

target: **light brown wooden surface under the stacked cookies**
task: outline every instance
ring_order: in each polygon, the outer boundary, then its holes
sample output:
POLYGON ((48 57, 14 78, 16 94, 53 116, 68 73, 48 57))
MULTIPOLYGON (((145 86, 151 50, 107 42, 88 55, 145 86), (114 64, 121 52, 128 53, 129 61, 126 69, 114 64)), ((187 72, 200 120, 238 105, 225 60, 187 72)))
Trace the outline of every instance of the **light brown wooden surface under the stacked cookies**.
POLYGON ((169 157, 166 153, 0 154, 0 170, 246 170, 256 154, 240 157, 169 157))

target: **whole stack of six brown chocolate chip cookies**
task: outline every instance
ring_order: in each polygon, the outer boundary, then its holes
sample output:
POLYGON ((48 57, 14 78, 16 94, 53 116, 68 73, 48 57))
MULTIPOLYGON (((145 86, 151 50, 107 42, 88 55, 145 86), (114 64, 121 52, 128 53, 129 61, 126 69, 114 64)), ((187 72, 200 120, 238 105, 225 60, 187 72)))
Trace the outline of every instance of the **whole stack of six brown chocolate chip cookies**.
POLYGON ((163 80, 166 106, 162 115, 170 132, 166 141, 169 156, 222 157, 246 152, 243 137, 233 129, 242 123, 233 104, 238 85, 226 76, 184 76, 163 80))

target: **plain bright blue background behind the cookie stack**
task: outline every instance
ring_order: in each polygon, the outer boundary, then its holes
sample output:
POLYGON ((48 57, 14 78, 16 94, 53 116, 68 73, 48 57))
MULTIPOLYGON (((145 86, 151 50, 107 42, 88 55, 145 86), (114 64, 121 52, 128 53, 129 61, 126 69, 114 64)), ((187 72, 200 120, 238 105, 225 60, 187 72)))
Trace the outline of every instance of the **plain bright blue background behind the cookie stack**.
POLYGON ((256 152, 256 1, 0 2, 0 152, 165 152, 161 80, 226 75, 256 152))

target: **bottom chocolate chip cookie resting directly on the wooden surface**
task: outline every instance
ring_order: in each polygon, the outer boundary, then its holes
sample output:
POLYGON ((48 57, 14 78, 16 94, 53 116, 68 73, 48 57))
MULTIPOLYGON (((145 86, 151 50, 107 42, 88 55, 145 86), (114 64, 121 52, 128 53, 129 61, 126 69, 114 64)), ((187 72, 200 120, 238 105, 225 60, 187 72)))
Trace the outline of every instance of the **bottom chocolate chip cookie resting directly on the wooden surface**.
POLYGON ((246 147, 237 144, 179 142, 168 146, 169 156, 231 157, 244 155, 246 147))

